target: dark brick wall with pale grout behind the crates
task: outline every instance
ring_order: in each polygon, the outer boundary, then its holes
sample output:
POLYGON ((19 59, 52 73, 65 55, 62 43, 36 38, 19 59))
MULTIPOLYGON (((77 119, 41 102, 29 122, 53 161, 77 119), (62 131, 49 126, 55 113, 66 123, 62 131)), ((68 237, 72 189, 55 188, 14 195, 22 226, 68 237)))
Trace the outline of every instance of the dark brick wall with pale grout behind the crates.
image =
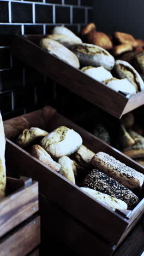
MULTIPOLYGON (((0 1, 0 109, 3 120, 46 104, 63 112, 65 104, 69 103, 65 97, 71 98, 68 90, 11 55, 13 34, 46 34, 55 25, 67 26, 79 33, 91 20, 91 12, 92 1, 0 1)), ((73 97, 77 99, 75 95, 73 97)), ((69 108, 71 104, 68 104, 69 108)))

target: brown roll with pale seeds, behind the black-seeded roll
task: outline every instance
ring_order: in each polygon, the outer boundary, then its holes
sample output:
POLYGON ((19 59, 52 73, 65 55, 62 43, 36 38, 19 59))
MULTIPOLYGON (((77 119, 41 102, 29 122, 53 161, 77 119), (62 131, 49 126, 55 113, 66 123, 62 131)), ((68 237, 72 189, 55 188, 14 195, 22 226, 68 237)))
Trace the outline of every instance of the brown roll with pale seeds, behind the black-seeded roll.
POLYGON ((144 175, 141 172, 137 172, 104 152, 95 154, 91 163, 127 188, 141 188, 143 185, 144 175))

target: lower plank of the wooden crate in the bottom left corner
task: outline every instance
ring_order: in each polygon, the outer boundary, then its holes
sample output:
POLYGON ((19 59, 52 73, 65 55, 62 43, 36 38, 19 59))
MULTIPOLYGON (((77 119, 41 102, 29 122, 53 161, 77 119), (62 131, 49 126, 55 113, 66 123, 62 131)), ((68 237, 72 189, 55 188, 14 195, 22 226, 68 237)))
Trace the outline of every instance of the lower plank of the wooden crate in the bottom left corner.
POLYGON ((0 240, 1 256, 25 256, 40 243, 40 217, 20 225, 0 240))

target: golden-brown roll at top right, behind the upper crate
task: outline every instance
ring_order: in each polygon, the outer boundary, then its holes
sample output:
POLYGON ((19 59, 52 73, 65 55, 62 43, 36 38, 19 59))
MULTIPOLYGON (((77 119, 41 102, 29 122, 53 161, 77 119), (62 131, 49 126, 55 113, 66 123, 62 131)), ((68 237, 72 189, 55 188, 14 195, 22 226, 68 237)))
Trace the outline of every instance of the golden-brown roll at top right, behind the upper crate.
POLYGON ((117 39, 120 44, 129 44, 132 47, 137 46, 136 39, 131 34, 116 31, 113 36, 117 39))

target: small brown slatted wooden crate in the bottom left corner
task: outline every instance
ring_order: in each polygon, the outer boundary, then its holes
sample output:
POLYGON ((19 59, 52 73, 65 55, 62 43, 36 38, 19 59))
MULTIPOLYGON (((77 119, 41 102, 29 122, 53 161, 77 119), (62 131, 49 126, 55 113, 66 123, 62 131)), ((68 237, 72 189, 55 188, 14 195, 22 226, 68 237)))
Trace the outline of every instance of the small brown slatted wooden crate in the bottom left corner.
POLYGON ((39 246, 38 208, 38 182, 7 177, 6 196, 0 201, 1 256, 25 256, 39 246))

